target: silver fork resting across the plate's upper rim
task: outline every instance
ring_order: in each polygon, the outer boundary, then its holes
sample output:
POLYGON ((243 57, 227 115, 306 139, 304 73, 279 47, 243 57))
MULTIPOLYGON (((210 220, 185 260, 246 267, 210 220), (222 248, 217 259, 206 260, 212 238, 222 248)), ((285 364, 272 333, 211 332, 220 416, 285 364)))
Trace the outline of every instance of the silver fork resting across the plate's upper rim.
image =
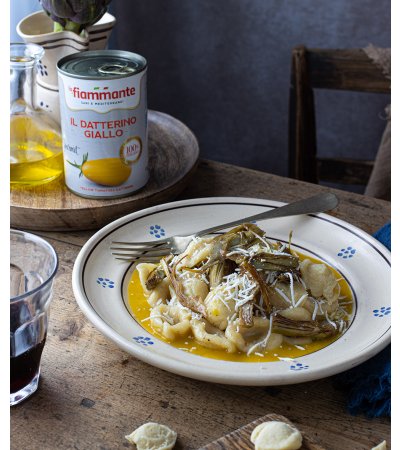
POLYGON ((306 198, 297 202, 289 203, 288 205, 272 209, 270 211, 256 214, 255 216, 245 217, 243 219, 235 220, 233 222, 224 223, 215 227, 207 228, 206 230, 198 231, 190 236, 173 236, 164 239, 163 241, 148 241, 148 242, 111 242, 112 244, 126 245, 131 248, 124 247, 110 247, 111 250, 120 250, 124 252, 135 253, 112 253, 115 256, 124 256, 125 258, 116 258, 123 261, 148 261, 158 262, 161 256, 168 254, 178 255, 183 253, 193 238, 210 234, 214 231, 222 230, 224 228, 231 228, 236 225, 241 225, 246 222, 254 222, 266 219, 275 219, 277 217, 297 216, 300 214, 317 214, 330 209, 336 208, 339 199, 335 194, 324 193, 315 195, 314 197, 306 198), (151 247, 149 247, 151 245, 151 247), (132 248, 133 247, 133 248, 132 248), (144 254, 148 253, 148 254, 144 254))

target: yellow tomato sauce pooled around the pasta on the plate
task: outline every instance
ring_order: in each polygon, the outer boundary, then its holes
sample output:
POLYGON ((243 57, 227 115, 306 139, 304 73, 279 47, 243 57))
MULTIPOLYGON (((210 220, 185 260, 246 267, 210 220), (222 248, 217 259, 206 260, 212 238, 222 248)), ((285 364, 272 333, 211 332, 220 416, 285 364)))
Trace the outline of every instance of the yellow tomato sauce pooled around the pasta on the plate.
MULTIPOLYGON (((309 259, 316 264, 322 263, 318 259, 302 255, 299 252, 296 253, 299 256, 300 261, 303 261, 304 259, 309 259)), ((339 300, 339 305, 343 310, 347 312, 348 317, 345 317, 344 319, 348 320, 351 317, 354 308, 354 301, 353 296, 351 294, 350 286, 335 269, 333 269, 332 267, 330 268, 335 274, 335 277, 340 285, 340 297, 346 296, 345 298, 339 300)), ((137 271, 133 273, 133 276, 130 280, 128 286, 128 296, 129 296, 129 305, 131 307, 131 310, 134 314, 136 321, 146 331, 148 331, 157 339, 160 339, 161 341, 164 341, 167 344, 170 344, 182 351, 192 353, 194 355, 203 356, 205 358, 219 359, 223 361, 249 362, 249 363, 279 361, 279 357, 295 359, 300 356, 316 352, 317 350, 320 350, 321 348, 328 346, 332 342, 336 341, 336 339, 338 339, 343 334, 343 332, 341 332, 329 338, 313 341, 311 344, 300 345, 300 347, 303 347, 304 350, 300 350, 299 348, 295 347, 292 344, 287 344, 286 342, 283 342, 280 347, 274 348, 273 350, 262 351, 258 349, 257 353, 263 354, 264 356, 259 356, 255 354, 247 356, 245 352, 228 353, 226 350, 218 350, 203 347, 201 344, 198 344, 193 339, 193 335, 191 333, 186 337, 180 337, 173 341, 170 341, 153 330, 153 328, 150 325, 150 320, 142 322, 143 319, 146 319, 150 316, 150 305, 147 303, 147 297, 143 293, 143 288, 142 285, 140 284, 139 274, 137 271)))

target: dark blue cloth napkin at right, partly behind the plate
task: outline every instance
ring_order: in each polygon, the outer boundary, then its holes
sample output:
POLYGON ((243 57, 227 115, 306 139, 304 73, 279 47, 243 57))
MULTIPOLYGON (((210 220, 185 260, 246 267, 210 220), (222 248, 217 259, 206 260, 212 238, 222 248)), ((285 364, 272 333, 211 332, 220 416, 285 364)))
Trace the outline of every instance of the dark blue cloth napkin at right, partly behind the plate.
MULTIPOLYGON (((391 222, 374 234, 390 251, 391 222)), ((337 375, 336 379, 350 388, 347 412, 366 413, 367 418, 391 415, 390 345, 363 364, 337 375)))

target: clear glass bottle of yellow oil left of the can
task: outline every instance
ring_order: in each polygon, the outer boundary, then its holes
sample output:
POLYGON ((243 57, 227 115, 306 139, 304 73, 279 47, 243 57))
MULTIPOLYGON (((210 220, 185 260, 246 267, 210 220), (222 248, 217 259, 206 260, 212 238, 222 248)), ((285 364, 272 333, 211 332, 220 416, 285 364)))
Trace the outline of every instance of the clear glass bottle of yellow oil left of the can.
POLYGON ((36 65, 44 49, 10 44, 11 186, 47 183, 63 172, 60 124, 36 106, 36 65))

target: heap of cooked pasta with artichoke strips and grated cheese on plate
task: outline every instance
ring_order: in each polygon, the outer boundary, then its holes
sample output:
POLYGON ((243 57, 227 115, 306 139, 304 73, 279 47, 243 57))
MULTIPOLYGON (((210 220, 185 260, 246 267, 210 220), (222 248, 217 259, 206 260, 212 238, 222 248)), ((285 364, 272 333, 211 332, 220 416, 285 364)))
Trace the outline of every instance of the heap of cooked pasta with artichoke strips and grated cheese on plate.
POLYGON ((346 326, 332 270, 300 263, 290 244, 270 243, 254 224, 196 238, 183 254, 137 270, 152 308, 144 320, 169 341, 189 335, 207 348, 250 355, 284 342, 301 349, 346 326))

